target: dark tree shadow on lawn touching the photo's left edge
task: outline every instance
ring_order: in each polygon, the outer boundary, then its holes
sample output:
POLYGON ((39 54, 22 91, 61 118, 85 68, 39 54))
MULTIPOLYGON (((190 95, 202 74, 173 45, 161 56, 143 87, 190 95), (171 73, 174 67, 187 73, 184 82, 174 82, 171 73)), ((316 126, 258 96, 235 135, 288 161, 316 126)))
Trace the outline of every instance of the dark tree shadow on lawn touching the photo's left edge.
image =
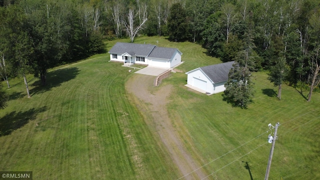
POLYGON ((46 110, 46 106, 31 108, 24 112, 10 112, 0 118, 0 136, 9 135, 12 131, 22 127, 30 120, 33 120, 39 112, 46 110))

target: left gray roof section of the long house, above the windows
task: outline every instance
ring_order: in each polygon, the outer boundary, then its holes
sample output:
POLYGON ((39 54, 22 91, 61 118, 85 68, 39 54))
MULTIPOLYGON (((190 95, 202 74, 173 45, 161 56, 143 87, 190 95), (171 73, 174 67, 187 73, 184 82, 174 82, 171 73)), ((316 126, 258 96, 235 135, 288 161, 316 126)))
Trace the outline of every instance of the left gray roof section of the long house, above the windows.
POLYGON ((109 52, 120 54, 127 52, 130 55, 148 56, 154 47, 155 45, 152 44, 116 42, 109 52))

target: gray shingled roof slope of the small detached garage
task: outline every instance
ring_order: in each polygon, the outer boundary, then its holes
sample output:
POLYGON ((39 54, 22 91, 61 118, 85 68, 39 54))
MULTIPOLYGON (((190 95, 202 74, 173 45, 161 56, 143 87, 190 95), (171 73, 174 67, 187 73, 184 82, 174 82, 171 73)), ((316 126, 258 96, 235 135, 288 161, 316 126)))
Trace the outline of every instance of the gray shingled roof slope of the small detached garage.
POLYGON ((199 67, 214 83, 226 81, 234 61, 199 67))

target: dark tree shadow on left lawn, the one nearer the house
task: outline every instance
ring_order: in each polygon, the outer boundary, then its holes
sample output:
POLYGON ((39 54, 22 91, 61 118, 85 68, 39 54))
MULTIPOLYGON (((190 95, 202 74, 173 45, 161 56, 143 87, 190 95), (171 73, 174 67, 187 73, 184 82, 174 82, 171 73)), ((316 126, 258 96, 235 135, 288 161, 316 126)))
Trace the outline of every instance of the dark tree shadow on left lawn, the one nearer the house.
POLYGON ((37 80, 33 82, 30 86, 34 86, 30 90, 31 96, 36 93, 43 93, 45 91, 50 90, 52 87, 60 86, 62 82, 69 81, 77 74, 79 74, 79 69, 77 67, 69 67, 69 68, 62 68, 57 69, 51 72, 48 72, 46 75, 47 84, 45 86, 41 85, 41 80, 37 80))

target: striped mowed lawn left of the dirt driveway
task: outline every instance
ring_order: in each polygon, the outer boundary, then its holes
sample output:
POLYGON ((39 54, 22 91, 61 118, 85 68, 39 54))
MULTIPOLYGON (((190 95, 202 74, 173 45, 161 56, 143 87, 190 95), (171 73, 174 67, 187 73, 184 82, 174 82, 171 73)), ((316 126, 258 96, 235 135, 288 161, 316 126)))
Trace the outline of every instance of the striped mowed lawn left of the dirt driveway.
POLYGON ((0 170, 31 170, 36 179, 177 178, 127 99, 131 73, 101 56, 50 71, 46 87, 28 76, 29 99, 21 79, 11 80, 0 123, 14 128, 1 128, 0 170))

